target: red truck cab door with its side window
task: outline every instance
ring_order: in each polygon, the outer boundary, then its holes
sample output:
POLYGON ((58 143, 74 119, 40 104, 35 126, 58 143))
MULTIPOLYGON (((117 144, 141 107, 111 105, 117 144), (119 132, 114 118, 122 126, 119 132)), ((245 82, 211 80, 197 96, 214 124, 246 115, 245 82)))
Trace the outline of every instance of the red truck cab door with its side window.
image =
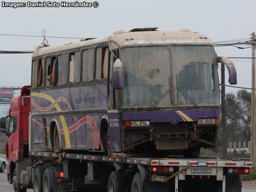
POLYGON ((8 154, 13 161, 18 160, 19 138, 17 133, 18 115, 10 116, 9 138, 8 138, 8 154))

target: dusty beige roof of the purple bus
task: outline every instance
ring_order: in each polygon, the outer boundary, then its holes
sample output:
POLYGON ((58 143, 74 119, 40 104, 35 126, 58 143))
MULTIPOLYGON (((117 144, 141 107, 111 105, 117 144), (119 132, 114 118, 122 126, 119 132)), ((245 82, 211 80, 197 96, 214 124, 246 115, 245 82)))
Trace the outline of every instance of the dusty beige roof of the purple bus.
MULTIPOLYGON (((139 44, 212 44, 209 37, 187 31, 138 31, 115 34, 110 36, 110 41, 115 42, 118 46, 139 45, 139 44)), ((108 42, 108 36, 95 38, 73 44, 62 46, 50 46, 36 49, 32 57, 60 52, 70 49, 76 49, 93 44, 108 42)))

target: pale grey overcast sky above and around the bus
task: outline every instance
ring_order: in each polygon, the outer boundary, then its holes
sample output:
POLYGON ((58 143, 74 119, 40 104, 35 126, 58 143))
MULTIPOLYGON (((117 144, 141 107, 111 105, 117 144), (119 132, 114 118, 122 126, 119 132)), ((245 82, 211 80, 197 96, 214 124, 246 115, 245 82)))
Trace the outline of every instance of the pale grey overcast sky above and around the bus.
MULTIPOLYGON (((14 3, 17 1, 6 1, 14 3)), ((27 3, 27 1, 19 1, 27 3)), ((31 1, 38 2, 38 1, 31 1)), ((41 1, 42 2, 42 1, 41 1)), ((54 1, 51 1, 54 2, 54 1)), ((55 1, 60 2, 60 1, 55 1)), ((75 2, 75 1, 66 1, 75 2)), ((83 2, 83 1, 78 1, 83 2)), ((93 3, 92 1, 86 1, 93 3)), ((97 0, 94 7, 2 7, 0 34, 57 37, 102 37, 118 29, 159 27, 159 30, 191 29, 210 37, 213 42, 251 37, 256 32, 256 0, 97 0)), ((2 2, 1 2, 2 3, 2 2)), ((50 46, 80 39, 49 38, 50 46)), ((0 51, 34 51, 43 37, 0 35, 0 51)), ((252 49, 232 46, 215 47, 218 56, 251 57, 252 49)), ((32 54, 0 54, 0 86, 30 84, 32 54)), ((250 59, 232 59, 237 85, 251 87, 250 59)), ((228 71, 226 84, 228 84, 228 71)), ((219 71, 220 76, 220 71, 219 71)), ((226 92, 239 89, 226 87, 226 92)))

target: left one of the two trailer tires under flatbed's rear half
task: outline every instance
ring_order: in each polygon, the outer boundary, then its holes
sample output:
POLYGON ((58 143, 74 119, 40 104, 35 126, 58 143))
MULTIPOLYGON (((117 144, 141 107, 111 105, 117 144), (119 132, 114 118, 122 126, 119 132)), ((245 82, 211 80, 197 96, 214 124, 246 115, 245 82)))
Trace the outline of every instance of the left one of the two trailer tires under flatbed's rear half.
POLYGON ((125 192, 124 176, 120 171, 113 171, 108 179, 108 192, 125 192))

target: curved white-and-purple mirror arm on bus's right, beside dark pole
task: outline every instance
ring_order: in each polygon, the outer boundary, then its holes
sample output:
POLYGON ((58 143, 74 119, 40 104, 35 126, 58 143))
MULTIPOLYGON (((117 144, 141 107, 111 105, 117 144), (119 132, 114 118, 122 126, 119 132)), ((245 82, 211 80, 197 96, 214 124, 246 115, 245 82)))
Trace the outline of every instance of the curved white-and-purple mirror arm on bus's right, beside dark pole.
POLYGON ((234 63, 227 57, 217 57, 218 63, 223 63, 228 68, 229 79, 231 85, 237 84, 236 68, 234 63))

